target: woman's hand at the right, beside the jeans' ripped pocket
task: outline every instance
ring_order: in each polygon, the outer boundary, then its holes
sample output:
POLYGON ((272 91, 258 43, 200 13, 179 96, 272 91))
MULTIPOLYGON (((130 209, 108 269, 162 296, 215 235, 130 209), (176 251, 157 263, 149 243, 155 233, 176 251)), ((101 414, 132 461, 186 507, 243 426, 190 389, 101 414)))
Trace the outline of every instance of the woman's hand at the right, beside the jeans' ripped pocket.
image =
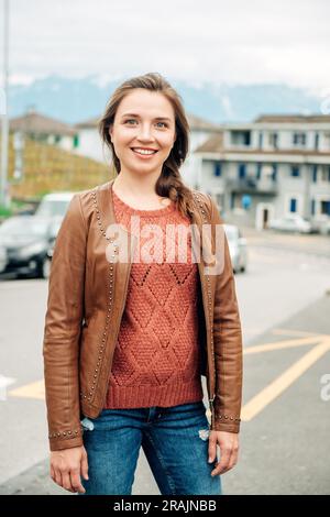
POLYGON ((239 435, 237 432, 210 431, 209 436, 209 459, 217 459, 217 444, 220 447, 220 461, 211 475, 224 474, 230 471, 237 462, 239 455, 239 435))

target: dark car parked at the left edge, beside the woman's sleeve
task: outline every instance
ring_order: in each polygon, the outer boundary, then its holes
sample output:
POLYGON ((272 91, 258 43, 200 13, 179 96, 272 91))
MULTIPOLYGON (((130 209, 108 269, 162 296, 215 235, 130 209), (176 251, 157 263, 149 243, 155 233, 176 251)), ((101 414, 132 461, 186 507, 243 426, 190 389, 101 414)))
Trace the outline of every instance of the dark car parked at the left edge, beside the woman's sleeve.
POLYGON ((54 218, 15 216, 0 226, 0 275, 47 278, 51 256, 61 227, 54 218))

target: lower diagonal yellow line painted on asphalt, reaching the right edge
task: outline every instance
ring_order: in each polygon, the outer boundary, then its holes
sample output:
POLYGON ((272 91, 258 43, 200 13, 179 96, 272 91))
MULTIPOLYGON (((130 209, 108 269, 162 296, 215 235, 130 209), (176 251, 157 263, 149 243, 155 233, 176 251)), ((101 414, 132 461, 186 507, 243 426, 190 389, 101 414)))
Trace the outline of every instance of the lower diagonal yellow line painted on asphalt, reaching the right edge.
POLYGON ((330 339, 323 340, 322 343, 314 346, 273 383, 268 384, 257 395, 255 395, 242 408, 241 419, 250 421, 260 414, 268 404, 277 398, 285 389, 287 389, 300 375, 302 375, 316 361, 330 350, 330 339))

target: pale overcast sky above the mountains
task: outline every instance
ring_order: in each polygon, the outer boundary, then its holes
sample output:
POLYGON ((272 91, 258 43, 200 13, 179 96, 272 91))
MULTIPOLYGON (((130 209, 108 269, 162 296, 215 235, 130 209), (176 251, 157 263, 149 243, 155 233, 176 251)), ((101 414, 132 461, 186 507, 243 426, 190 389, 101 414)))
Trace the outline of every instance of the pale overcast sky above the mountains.
POLYGON ((329 0, 9 1, 11 82, 160 72, 330 89, 329 0))

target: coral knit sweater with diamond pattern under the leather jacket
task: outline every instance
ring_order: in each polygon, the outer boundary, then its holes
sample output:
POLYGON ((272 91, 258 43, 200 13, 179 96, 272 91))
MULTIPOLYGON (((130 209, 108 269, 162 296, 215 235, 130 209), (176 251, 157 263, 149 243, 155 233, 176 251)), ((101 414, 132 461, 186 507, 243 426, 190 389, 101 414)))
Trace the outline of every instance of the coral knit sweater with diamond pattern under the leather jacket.
MULTIPOLYGON (((174 202, 156 210, 138 210, 128 206, 113 189, 112 197, 117 222, 130 232, 139 229, 136 224, 131 227, 131 216, 140 217, 140 231, 145 223, 161 227, 163 258, 158 255, 153 262, 142 258, 136 262, 136 256, 142 256, 143 243, 151 242, 153 235, 143 238, 141 234, 131 265, 105 408, 169 407, 202 400, 199 273, 197 263, 191 261, 191 239, 185 239, 188 243, 185 262, 179 262, 180 249, 174 261, 164 261, 166 224, 189 227, 190 221, 179 213, 174 202)), ((177 232, 175 241, 178 250, 177 232)))

